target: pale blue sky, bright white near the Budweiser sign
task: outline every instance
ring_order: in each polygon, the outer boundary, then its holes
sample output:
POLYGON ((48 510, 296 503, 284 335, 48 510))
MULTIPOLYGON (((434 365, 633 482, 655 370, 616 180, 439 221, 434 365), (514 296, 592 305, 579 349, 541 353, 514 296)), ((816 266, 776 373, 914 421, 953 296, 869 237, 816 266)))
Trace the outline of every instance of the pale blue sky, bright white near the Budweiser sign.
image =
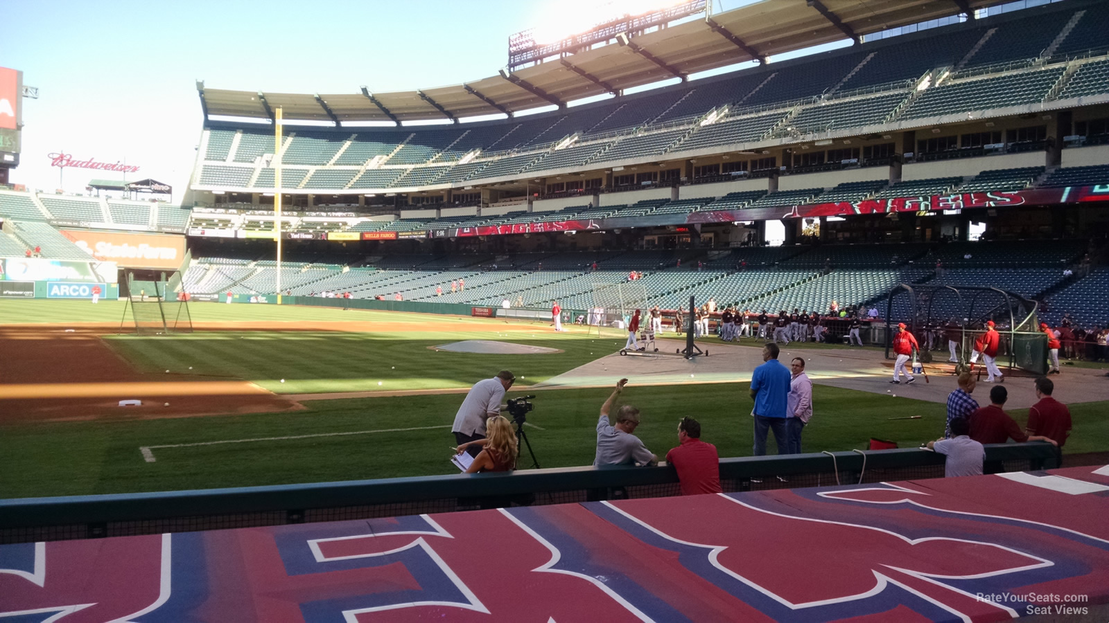
MULTIPOLYGON (((49 154, 67 153, 139 166, 128 181, 165 182, 180 201, 203 129, 197 80, 287 93, 459 84, 505 67, 515 32, 638 1, 0 0, 0 67, 39 89, 37 100, 23 99, 20 165, 10 181, 83 193, 89 180, 123 177, 72 167, 60 175, 49 154)), ((712 1, 719 12, 754 0, 712 1)))

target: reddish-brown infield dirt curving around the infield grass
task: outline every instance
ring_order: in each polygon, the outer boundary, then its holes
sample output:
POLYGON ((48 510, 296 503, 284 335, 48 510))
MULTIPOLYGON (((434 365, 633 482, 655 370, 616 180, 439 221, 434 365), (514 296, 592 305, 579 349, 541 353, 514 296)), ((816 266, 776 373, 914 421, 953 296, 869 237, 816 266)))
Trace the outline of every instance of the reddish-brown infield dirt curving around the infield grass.
MULTIPOLYGON (((193 324, 196 331, 509 333, 533 325, 465 317, 429 321, 243 321, 193 324)), ((144 374, 101 336, 113 323, 0 325, 0 425, 44 421, 136 420, 233 413, 269 413, 304 407, 253 382, 144 374), (141 406, 119 401, 140 399, 141 406), (169 404, 169 407, 165 406, 169 404)))

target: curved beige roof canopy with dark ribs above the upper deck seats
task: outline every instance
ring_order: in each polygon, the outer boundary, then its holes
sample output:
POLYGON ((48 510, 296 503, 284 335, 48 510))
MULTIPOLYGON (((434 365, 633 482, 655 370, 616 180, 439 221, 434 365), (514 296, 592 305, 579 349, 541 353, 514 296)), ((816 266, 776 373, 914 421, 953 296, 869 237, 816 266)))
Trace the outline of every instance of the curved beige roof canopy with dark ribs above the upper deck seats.
POLYGON ((474 82, 417 91, 263 93, 207 89, 197 83, 205 118, 287 121, 403 122, 456 120, 536 109, 729 64, 763 60, 811 45, 858 38, 996 4, 997 0, 762 0, 645 34, 620 44, 474 82))

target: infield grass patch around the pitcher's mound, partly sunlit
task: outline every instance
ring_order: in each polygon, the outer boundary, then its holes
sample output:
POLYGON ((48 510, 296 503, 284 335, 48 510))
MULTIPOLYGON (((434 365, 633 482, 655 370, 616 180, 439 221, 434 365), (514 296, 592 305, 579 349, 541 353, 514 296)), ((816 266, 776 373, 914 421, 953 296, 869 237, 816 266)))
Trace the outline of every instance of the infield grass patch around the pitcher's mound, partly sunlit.
POLYGON ((615 353, 623 345, 596 335, 546 330, 499 335, 205 331, 153 338, 108 336, 106 343, 143 371, 241 378, 278 394, 469 387, 500 369, 516 372, 521 385, 532 385, 615 353), (562 353, 487 355, 431 349, 466 339, 541 346, 562 353))

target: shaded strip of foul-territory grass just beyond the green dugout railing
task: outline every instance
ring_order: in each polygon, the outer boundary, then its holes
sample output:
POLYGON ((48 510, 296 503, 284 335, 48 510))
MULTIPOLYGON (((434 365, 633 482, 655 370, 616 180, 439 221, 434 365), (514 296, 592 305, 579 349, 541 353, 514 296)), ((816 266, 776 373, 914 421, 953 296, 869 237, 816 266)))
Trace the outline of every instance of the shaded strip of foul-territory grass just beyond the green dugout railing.
MULTIPOLYGON (((536 409, 528 415, 528 422, 539 428, 527 430, 542 467, 592 462, 597 416, 608 394, 596 388, 539 394, 536 409)), ((685 415, 702 422, 703 439, 715 443, 722 457, 751 455, 746 384, 629 387, 623 397, 642 409, 643 423, 637 435, 660 457, 678 445, 678 421, 685 415)), ((461 395, 322 400, 307 402, 306 411, 275 415, 6 427, 0 440, 0 497, 456 473, 447 462, 454 445, 449 425, 461 400, 461 395), (441 428, 153 448, 155 462, 146 462, 140 451, 143 446, 419 427, 441 428)), ((808 452, 865 449, 871 437, 915 447, 944 431, 943 405, 824 386, 814 386, 814 402, 816 413, 804 433, 808 452), (912 415, 922 418, 889 419, 912 415)), ((1075 431, 1067 453, 1106 448, 1107 408, 1106 402, 1071 407, 1075 431)), ((1027 418, 1026 411, 1013 415, 1021 425, 1027 418)), ((774 442, 769 447, 773 453, 774 442)))

